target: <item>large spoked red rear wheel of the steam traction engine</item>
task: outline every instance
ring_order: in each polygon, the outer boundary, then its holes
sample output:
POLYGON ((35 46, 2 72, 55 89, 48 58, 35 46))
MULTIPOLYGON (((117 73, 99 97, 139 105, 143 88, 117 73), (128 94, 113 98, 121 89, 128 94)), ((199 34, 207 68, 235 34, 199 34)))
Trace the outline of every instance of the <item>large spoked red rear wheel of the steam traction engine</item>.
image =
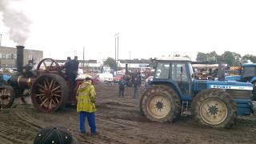
POLYGON ((66 81, 58 74, 42 74, 31 88, 34 106, 46 113, 60 110, 66 105, 68 96, 69 89, 66 81))

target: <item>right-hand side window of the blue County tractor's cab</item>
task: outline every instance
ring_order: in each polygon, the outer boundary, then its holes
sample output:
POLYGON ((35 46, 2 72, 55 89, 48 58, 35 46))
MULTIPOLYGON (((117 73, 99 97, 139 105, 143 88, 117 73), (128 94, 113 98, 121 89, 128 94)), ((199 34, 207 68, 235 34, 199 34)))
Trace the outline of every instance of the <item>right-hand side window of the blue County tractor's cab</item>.
POLYGON ((187 82, 185 63, 173 63, 171 78, 176 82, 187 82))

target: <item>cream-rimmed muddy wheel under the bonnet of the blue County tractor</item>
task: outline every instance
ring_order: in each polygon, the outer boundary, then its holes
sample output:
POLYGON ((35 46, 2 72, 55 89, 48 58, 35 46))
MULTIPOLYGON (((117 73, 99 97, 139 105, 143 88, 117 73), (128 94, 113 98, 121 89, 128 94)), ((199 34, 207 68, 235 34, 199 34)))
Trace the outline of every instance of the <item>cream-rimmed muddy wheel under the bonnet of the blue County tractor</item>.
POLYGON ((194 120, 205 126, 230 128, 234 125, 237 108, 224 90, 210 89, 200 92, 192 102, 194 120))

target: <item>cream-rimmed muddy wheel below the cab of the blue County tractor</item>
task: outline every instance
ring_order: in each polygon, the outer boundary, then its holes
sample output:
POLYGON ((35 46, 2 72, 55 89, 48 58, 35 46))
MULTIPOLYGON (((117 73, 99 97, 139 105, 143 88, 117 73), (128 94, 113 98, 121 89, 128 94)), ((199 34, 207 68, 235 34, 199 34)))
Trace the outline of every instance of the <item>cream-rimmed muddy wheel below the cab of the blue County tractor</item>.
POLYGON ((151 121, 173 122, 181 110, 178 94, 170 86, 155 85, 142 95, 141 109, 151 121))

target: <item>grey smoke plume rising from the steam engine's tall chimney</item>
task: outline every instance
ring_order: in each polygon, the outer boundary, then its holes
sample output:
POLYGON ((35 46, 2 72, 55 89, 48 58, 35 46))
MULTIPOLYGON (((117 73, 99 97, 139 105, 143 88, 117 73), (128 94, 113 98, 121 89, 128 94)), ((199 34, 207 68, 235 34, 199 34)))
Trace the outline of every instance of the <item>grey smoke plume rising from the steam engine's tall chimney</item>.
MULTIPOLYGON (((10 39, 18 45, 25 45, 30 34, 30 19, 18 10, 10 8, 10 2, 14 0, 0 0, 0 14, 2 22, 9 28, 10 39)), ((17 0, 15 0, 17 1, 17 0)))

